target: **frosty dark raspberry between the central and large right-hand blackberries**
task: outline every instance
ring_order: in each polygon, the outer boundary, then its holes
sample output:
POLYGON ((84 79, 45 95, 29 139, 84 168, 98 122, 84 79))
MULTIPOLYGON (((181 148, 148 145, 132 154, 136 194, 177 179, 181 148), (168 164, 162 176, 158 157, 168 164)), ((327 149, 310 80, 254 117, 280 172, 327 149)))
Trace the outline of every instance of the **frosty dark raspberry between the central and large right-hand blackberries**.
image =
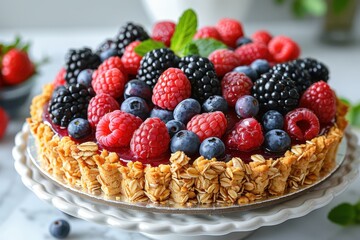
POLYGON ((229 72, 221 82, 222 95, 229 104, 234 107, 236 100, 251 93, 253 82, 244 73, 229 72))

